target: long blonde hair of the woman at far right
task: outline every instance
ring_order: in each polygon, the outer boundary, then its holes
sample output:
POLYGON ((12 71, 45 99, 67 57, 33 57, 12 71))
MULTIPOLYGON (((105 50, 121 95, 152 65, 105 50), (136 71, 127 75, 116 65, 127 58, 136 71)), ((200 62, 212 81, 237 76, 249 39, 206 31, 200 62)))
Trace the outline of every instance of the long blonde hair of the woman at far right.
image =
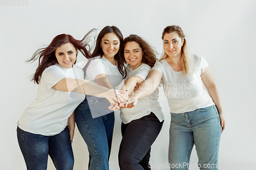
MULTIPOLYGON (((163 37, 165 34, 170 34, 172 32, 177 33, 181 39, 184 39, 184 43, 181 47, 182 69, 183 69, 184 75, 191 75, 191 74, 193 74, 193 71, 194 71, 194 60, 189 52, 189 49, 188 49, 188 46, 186 43, 186 39, 185 39, 185 35, 184 35, 182 29, 179 26, 175 26, 175 25, 165 27, 163 30, 163 33, 162 33, 162 40, 163 40, 163 37)), ((167 57, 167 54, 163 51, 162 56, 160 57, 159 61, 165 59, 165 57, 167 57)))

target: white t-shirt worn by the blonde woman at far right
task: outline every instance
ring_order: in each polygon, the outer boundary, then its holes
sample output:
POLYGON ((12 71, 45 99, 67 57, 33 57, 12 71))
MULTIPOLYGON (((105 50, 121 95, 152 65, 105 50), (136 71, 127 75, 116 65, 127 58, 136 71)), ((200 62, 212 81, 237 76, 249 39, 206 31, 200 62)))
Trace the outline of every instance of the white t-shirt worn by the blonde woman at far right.
POLYGON ((186 76, 183 71, 174 71, 165 61, 158 61, 152 69, 162 74, 165 96, 168 100, 170 112, 183 113, 214 105, 208 93, 203 89, 201 74, 208 63, 198 55, 193 55, 195 71, 186 76))

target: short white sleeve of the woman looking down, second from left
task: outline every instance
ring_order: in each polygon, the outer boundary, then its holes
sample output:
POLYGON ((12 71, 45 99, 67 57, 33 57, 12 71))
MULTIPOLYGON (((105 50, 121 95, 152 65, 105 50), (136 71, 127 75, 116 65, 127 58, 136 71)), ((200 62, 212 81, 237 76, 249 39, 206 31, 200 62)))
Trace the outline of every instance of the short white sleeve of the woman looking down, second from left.
POLYGON ((106 65, 100 59, 92 60, 91 63, 89 64, 86 72, 87 72, 87 74, 90 73, 90 75, 92 75, 92 78, 94 80, 95 77, 100 74, 106 75, 106 65))

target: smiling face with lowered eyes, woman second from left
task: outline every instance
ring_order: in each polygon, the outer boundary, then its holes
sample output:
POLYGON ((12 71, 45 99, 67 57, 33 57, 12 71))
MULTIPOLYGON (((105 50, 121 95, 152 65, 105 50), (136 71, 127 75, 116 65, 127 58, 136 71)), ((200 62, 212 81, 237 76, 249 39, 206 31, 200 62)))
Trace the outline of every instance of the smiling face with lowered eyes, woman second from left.
POLYGON ((104 57, 110 60, 118 53, 120 40, 115 33, 108 33, 102 37, 100 44, 104 57))

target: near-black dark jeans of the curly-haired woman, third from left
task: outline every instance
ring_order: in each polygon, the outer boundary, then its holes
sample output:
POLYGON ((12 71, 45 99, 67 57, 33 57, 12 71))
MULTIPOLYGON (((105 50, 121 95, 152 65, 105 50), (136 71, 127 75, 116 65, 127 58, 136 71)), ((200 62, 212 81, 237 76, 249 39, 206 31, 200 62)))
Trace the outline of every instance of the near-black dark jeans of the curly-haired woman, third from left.
POLYGON ((118 160, 121 170, 142 170, 150 168, 151 145, 163 126, 157 116, 151 114, 121 125, 122 141, 118 160))

